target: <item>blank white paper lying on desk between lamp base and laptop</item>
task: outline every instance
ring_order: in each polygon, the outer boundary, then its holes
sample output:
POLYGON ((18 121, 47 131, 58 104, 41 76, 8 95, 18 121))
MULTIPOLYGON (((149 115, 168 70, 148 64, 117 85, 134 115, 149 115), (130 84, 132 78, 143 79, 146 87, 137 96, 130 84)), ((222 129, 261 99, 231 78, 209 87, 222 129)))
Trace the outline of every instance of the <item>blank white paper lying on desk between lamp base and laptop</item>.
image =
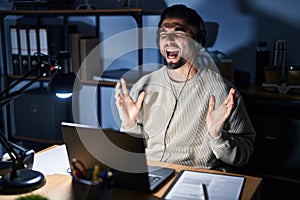
POLYGON ((66 145, 34 154, 32 169, 46 175, 68 174, 70 168, 66 145))

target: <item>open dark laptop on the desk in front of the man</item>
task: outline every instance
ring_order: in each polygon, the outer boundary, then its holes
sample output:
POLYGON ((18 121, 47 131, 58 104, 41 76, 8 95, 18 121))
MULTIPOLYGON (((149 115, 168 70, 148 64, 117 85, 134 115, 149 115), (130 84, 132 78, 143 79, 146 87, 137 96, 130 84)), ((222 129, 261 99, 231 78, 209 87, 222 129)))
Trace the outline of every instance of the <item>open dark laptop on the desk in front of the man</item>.
POLYGON ((62 122, 61 129, 69 160, 76 158, 87 169, 95 164, 113 168, 115 186, 153 192, 175 173, 147 165, 144 139, 138 135, 68 122, 62 122))

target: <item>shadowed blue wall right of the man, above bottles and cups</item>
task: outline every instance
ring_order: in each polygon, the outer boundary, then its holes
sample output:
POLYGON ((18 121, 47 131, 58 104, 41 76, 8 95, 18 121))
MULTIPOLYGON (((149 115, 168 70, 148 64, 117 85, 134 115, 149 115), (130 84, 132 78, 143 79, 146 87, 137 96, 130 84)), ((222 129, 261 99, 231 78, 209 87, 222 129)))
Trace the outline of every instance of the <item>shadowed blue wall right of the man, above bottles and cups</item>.
POLYGON ((255 48, 257 42, 287 41, 287 65, 300 64, 297 50, 300 44, 299 1, 272 0, 166 0, 168 5, 186 4, 205 21, 217 21, 219 34, 213 49, 233 58, 235 69, 249 72, 254 83, 255 48))

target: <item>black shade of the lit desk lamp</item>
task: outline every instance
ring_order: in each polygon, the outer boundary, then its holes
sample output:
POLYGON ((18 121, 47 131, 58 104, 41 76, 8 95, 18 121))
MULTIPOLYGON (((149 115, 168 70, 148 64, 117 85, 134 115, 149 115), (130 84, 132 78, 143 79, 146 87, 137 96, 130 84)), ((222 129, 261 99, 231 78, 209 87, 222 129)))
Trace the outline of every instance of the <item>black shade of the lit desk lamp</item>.
POLYGON ((77 93, 82 89, 81 82, 73 72, 56 71, 48 83, 49 93, 77 93))

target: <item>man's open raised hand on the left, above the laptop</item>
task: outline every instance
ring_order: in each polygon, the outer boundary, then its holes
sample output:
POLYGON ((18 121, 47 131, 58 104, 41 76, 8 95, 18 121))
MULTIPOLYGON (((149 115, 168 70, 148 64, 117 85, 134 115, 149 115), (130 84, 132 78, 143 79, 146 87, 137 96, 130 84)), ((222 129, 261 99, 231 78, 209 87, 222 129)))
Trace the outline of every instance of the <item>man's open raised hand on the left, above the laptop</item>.
POLYGON ((116 84, 115 92, 115 100, 122 121, 122 128, 131 129, 136 124, 136 119, 141 110, 146 92, 142 91, 135 102, 128 94, 124 79, 121 79, 121 81, 116 84))

